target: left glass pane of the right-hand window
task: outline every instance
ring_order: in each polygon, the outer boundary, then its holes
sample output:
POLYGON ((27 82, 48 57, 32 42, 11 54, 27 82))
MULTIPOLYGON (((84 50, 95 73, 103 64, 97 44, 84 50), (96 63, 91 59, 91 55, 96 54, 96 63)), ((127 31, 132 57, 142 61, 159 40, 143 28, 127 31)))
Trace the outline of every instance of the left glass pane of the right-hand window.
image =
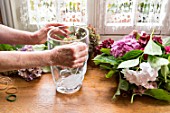
POLYGON ((106 0, 106 25, 125 25, 133 22, 134 1, 106 0))

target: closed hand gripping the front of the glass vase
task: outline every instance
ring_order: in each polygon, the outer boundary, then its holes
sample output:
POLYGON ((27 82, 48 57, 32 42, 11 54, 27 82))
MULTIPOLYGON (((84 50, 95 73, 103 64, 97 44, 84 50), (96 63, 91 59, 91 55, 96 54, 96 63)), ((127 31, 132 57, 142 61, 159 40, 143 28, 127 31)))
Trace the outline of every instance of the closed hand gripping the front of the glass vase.
POLYGON ((57 46, 51 50, 52 65, 77 68, 83 66, 87 59, 88 48, 85 43, 74 42, 57 46))

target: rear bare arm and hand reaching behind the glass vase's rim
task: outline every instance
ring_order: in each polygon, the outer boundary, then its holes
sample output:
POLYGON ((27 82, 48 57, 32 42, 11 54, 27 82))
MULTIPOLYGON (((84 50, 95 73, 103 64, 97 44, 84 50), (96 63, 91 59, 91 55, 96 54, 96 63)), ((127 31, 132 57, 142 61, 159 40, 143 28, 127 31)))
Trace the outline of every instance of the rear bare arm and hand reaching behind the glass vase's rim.
MULTIPOLYGON (((47 32, 51 29, 52 26, 58 27, 64 25, 59 23, 49 23, 38 31, 27 32, 16 30, 0 24, 0 44, 43 44, 46 42, 47 32)), ((62 29, 56 30, 55 33, 66 37, 69 33, 67 28, 67 26, 64 26, 62 29)))

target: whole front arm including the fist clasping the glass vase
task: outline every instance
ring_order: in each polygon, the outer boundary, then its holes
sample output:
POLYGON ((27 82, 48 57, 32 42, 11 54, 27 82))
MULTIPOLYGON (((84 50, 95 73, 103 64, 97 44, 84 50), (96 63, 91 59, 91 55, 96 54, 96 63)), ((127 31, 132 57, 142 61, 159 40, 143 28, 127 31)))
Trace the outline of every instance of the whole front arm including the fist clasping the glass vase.
POLYGON ((80 42, 46 51, 0 51, 0 72, 50 65, 80 67, 87 54, 86 44, 80 42))

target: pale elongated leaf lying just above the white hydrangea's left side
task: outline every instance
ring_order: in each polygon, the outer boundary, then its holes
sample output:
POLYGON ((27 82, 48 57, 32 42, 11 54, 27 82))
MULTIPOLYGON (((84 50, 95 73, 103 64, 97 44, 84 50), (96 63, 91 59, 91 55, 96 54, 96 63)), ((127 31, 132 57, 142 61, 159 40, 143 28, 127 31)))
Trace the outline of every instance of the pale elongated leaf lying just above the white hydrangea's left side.
POLYGON ((139 58, 133 60, 127 60, 119 64, 118 68, 130 68, 139 64, 139 58))

